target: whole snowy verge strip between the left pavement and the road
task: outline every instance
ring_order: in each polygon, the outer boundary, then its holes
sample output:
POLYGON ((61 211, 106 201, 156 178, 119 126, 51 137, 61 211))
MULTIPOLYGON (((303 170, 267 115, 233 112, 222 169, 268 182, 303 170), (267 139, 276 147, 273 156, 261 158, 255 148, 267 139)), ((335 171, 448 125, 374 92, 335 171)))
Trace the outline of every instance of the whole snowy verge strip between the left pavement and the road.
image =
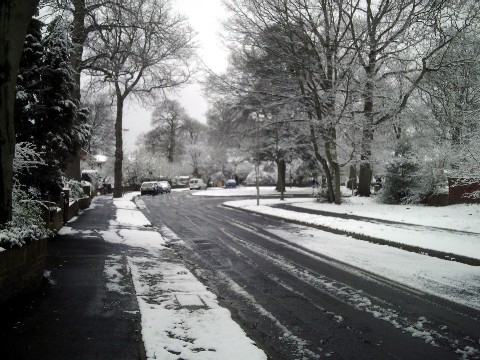
MULTIPOLYGON (((116 219, 102 236, 131 248, 126 261, 140 308, 147 358, 266 359, 216 296, 165 247, 168 240, 145 228, 150 222, 131 201, 136 195, 114 199, 116 219)), ((120 262, 119 257, 111 257, 105 265, 112 291, 123 291, 117 286, 120 262)))

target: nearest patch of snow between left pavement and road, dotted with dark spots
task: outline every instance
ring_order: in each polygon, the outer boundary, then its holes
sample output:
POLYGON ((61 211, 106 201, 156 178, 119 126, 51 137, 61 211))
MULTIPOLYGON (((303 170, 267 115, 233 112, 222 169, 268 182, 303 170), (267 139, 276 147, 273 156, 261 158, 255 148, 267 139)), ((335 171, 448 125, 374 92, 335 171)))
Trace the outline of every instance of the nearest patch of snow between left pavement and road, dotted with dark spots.
POLYGON ((266 359, 183 264, 129 258, 149 359, 266 359), (161 278, 153 286, 149 277, 161 278))

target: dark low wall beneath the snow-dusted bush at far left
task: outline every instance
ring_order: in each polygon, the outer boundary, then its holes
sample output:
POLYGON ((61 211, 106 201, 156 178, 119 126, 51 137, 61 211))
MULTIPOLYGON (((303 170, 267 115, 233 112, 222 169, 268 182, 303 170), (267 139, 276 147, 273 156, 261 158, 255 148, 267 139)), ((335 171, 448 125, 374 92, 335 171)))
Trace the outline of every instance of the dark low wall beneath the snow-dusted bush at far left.
POLYGON ((0 252, 0 304, 39 288, 47 258, 47 239, 0 252))

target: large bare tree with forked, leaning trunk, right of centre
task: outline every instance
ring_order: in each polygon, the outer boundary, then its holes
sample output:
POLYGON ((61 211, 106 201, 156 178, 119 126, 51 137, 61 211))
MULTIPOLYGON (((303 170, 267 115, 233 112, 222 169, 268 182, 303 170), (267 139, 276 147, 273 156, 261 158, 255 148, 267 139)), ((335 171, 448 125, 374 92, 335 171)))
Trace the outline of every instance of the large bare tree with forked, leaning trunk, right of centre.
MULTIPOLYGON (((228 2, 228 28, 242 46, 234 60, 254 86, 262 107, 290 104, 294 120, 308 124, 310 142, 327 179, 327 198, 340 203, 338 125, 350 107, 348 87, 354 51, 343 21, 346 1, 228 2), (243 57, 243 59, 242 59, 243 57)), ((237 91, 240 86, 237 86, 237 91)))

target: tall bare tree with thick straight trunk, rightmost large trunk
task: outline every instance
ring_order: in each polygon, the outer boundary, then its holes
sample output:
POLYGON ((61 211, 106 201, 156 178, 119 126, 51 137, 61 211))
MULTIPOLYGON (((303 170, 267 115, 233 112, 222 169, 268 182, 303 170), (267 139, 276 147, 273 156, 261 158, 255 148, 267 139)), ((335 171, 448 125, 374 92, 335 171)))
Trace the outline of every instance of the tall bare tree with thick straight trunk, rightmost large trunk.
POLYGON ((475 1, 350 1, 349 30, 363 70, 359 195, 370 195, 370 158, 375 129, 408 105, 425 76, 445 65, 451 42, 478 21, 475 1), (388 91, 392 86, 397 91, 388 91))

